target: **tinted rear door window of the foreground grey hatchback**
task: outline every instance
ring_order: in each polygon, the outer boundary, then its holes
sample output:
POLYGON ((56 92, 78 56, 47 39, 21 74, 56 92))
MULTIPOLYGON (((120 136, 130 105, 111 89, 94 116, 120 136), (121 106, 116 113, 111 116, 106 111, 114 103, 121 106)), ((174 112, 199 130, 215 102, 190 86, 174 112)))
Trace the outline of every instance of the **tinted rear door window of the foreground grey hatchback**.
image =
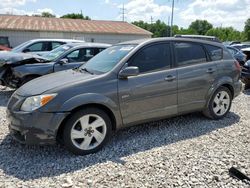
POLYGON ((175 43, 178 66, 186 66, 205 62, 206 53, 200 44, 177 42, 175 43))

